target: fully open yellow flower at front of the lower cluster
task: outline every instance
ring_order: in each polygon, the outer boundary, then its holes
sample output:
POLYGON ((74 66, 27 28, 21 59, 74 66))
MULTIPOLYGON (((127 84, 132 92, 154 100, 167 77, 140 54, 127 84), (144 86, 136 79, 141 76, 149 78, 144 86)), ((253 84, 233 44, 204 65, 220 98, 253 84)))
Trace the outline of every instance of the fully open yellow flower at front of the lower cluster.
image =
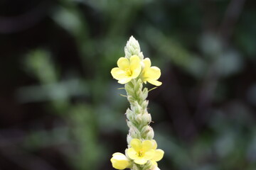
POLYGON ((133 159, 136 164, 146 164, 154 158, 155 149, 154 143, 151 140, 132 139, 131 147, 127 149, 127 154, 130 159, 133 159))

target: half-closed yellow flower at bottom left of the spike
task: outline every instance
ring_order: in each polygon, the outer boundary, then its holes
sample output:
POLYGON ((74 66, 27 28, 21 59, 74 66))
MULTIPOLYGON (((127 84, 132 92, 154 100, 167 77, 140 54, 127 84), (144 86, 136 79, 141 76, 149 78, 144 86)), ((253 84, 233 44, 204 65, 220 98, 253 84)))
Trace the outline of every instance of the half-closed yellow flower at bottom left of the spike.
POLYGON ((119 152, 114 153, 110 161, 112 162, 112 166, 115 169, 126 169, 129 167, 131 163, 129 162, 129 159, 124 154, 119 152))

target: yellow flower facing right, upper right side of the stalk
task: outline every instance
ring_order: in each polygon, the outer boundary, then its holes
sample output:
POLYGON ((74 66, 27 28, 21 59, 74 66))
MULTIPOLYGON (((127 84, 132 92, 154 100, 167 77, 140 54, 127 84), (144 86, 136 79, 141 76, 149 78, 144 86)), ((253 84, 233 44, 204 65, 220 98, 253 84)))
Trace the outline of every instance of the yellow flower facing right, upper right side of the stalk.
POLYGON ((151 61, 149 58, 145 58, 143 60, 144 63, 144 69, 142 70, 142 81, 146 83, 148 81, 150 84, 153 84, 155 86, 161 86, 161 82, 157 81, 159 77, 161 76, 161 70, 159 67, 151 67, 151 61))

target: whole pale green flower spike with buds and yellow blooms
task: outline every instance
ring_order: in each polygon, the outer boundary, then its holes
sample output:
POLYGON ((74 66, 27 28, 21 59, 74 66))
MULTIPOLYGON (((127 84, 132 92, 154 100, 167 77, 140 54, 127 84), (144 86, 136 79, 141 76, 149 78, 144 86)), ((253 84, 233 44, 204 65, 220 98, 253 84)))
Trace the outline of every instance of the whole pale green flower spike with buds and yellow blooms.
POLYGON ((157 81, 161 75, 158 67, 151 67, 149 58, 144 59, 140 51, 139 42, 131 37, 124 47, 125 57, 120 57, 117 66, 111 74, 119 84, 124 84, 130 108, 127 109, 127 135, 128 148, 125 155, 115 153, 111 162, 115 169, 153 170, 159 169, 157 163, 164 156, 164 151, 156 149, 154 130, 149 125, 151 115, 147 112, 149 101, 148 89, 143 88, 143 83, 149 82, 160 86, 157 81))

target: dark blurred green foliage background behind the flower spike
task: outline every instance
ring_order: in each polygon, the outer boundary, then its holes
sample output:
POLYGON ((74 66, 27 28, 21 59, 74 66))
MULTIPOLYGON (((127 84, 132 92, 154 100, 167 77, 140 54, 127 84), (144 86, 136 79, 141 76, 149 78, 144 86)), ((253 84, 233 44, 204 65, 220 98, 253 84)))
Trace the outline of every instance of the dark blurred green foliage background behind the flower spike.
POLYGON ((255 170, 255 6, 1 0, 0 169, 113 169, 129 104, 110 70, 134 35, 162 73, 149 93, 160 169, 255 170))

